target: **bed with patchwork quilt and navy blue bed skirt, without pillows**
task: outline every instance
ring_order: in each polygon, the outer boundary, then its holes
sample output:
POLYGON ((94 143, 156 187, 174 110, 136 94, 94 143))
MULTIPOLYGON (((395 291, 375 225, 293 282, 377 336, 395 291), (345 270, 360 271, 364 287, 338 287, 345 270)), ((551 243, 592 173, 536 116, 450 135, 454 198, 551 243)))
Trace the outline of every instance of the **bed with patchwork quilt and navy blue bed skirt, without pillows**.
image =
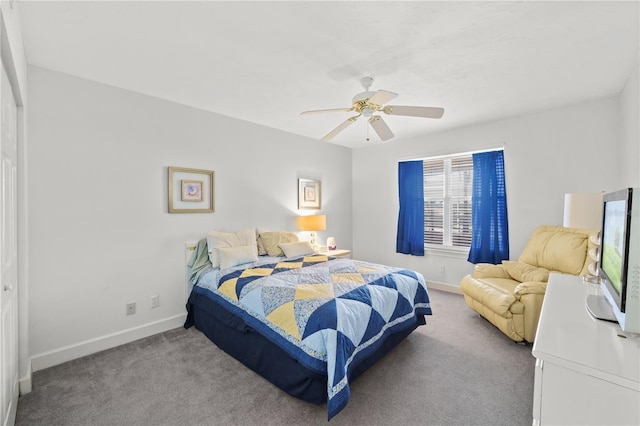
POLYGON ((431 315, 415 271, 319 255, 303 243, 217 262, 212 253, 222 259, 226 248, 214 244, 202 239, 189 255, 184 327, 288 394, 326 402, 329 420, 348 403, 350 381, 431 315))

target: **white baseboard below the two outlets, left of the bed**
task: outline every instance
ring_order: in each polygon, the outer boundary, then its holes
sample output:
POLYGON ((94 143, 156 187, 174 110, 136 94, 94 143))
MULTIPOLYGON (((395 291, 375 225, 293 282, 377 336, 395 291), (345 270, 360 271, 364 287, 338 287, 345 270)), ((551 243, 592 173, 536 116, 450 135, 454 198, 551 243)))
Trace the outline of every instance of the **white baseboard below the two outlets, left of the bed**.
MULTIPOLYGON (((31 357, 31 368, 33 371, 43 370, 71 361, 83 356, 91 355, 105 349, 114 348, 133 342, 134 340, 144 337, 153 336, 167 330, 182 327, 187 318, 187 314, 176 315, 174 317, 165 318, 149 324, 119 331, 117 333, 107 334, 106 336, 97 337, 95 339, 86 340, 62 348, 47 351, 31 357)), ((26 379, 25 379, 26 380, 26 379)), ((29 389, 31 387, 31 379, 29 378, 29 389)), ((26 383, 25 383, 26 386, 26 383)), ((26 387, 25 387, 26 388, 26 387)))

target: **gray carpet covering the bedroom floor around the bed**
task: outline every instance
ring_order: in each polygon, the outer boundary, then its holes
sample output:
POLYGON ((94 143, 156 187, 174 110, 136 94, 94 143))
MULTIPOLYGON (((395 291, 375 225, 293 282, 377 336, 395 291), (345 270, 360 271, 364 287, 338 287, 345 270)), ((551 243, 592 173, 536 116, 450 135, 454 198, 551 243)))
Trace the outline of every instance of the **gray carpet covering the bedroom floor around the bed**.
MULTIPOLYGON (((430 290, 434 315, 352 383, 330 425, 530 425, 535 359, 430 290)), ((326 405, 280 391, 182 328, 38 371, 17 425, 326 424, 326 405)))

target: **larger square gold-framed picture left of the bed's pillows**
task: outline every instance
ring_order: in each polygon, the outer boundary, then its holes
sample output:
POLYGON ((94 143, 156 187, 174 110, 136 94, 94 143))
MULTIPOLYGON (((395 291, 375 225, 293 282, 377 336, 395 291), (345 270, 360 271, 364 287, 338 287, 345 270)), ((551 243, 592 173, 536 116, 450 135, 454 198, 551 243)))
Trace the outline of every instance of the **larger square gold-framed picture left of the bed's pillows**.
POLYGON ((213 170, 169 167, 169 213, 213 213, 213 170))

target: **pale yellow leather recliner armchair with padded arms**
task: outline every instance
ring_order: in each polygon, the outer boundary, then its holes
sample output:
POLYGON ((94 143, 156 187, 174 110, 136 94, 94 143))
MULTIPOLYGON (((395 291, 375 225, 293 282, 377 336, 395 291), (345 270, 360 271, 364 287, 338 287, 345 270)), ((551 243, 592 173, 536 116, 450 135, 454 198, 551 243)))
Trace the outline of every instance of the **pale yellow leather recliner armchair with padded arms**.
POLYGON ((515 342, 533 342, 549 272, 585 275, 596 231, 540 226, 517 261, 478 264, 462 279, 467 305, 515 342))

